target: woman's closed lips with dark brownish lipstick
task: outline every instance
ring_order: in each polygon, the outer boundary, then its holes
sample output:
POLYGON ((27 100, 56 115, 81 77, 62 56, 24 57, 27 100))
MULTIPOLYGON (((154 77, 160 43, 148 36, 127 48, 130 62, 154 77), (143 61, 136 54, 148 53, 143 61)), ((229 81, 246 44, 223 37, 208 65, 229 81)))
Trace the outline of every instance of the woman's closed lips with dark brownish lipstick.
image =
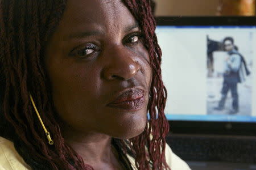
POLYGON ((116 97, 107 106, 126 110, 138 110, 143 107, 144 102, 144 91, 138 88, 131 88, 122 92, 121 95, 116 97))

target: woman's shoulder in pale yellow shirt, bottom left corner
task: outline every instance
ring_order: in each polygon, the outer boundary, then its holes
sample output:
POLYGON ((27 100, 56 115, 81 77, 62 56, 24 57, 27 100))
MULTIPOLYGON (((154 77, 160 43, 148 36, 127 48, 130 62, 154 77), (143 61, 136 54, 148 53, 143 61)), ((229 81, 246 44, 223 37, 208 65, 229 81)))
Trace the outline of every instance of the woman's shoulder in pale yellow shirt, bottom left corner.
POLYGON ((15 150, 13 142, 0 137, 0 170, 30 169, 15 150))

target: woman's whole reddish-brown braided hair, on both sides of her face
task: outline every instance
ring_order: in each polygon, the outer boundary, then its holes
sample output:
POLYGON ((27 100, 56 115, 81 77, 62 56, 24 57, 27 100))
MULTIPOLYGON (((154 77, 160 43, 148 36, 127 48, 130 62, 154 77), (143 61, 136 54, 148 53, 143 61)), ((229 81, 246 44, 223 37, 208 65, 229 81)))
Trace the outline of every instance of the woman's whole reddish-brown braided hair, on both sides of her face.
MULTIPOLYGON (((162 53, 155 35, 150 0, 122 1, 141 25, 153 74, 146 129, 138 137, 115 141, 122 148, 120 151, 134 156, 138 169, 150 169, 149 163, 152 169, 170 169, 164 156, 169 129, 164 116, 167 91, 162 82, 162 53)), ((65 6, 66 0, 0 0, 0 136, 13 141, 33 169, 93 169, 64 142, 44 69, 44 49, 65 6), (47 143, 28 92, 34 96, 36 107, 54 139, 53 146, 47 143)))

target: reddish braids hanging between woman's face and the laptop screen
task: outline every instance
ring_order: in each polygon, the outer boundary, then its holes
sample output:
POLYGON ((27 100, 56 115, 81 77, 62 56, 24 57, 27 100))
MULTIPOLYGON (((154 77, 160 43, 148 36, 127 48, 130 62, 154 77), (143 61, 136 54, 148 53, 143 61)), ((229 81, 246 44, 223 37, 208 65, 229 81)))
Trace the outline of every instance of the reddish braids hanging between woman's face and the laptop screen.
POLYGON ((143 147, 147 144, 153 169, 170 168, 166 163, 164 155, 165 138, 169 130, 169 124, 164 115, 167 90, 163 85, 160 69, 162 52, 155 35, 156 23, 152 16, 149 1, 130 0, 123 2, 129 7, 138 22, 141 22, 140 24, 144 34, 145 44, 150 54, 152 68, 152 85, 150 88, 150 101, 148 103, 148 112, 150 113, 149 127, 146 127, 146 130, 141 135, 131 140, 135 150, 140 151, 140 155, 137 155, 136 158, 136 166, 138 169, 149 169, 149 164, 146 160, 146 151, 143 147), (156 109, 158 112, 156 112, 156 109), (150 134, 152 134, 152 139, 150 138, 150 134))

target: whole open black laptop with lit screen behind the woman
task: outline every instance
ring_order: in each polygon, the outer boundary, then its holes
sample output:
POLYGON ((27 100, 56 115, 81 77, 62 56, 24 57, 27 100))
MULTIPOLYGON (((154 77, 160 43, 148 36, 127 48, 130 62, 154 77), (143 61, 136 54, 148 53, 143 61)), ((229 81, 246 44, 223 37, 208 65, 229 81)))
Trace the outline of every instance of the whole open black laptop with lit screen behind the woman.
POLYGON ((193 166, 255 169, 256 18, 158 17, 156 23, 172 150, 193 166))

